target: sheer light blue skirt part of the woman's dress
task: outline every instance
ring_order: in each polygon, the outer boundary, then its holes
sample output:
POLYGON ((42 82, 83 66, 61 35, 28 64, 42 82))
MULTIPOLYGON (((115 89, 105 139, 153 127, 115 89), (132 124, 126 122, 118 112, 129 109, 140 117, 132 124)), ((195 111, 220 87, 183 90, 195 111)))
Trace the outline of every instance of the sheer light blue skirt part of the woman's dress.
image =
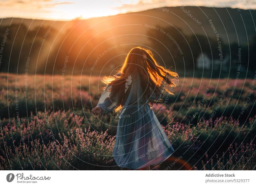
POLYGON ((163 162, 174 149, 147 104, 129 106, 119 116, 113 157, 119 167, 138 169, 163 162))

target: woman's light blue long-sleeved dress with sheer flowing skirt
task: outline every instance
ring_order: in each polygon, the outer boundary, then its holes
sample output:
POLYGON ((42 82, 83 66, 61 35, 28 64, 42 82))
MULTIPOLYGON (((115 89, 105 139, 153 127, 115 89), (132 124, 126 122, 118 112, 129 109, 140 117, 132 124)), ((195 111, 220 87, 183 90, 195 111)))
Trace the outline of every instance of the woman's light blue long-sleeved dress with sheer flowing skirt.
MULTIPOLYGON (((161 163, 172 155, 174 149, 148 105, 149 100, 142 97, 140 76, 133 74, 126 81, 126 101, 119 115, 112 155, 116 164, 124 168, 138 169, 161 163)), ((103 113, 111 112, 117 106, 119 94, 110 99, 110 88, 106 86, 97 104, 103 113)), ((150 99, 157 100, 161 96, 154 95, 152 90, 150 99)))

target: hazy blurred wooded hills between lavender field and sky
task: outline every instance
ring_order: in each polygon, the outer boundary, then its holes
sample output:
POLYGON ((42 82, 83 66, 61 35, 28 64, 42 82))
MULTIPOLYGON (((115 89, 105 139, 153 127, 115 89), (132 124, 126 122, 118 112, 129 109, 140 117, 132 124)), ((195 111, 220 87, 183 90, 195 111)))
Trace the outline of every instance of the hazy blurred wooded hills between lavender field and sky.
MULTIPOLYGON (((26 7, 32 9, 39 2, 26 7)), ((95 12, 101 12, 98 5, 94 5, 95 12)), ((84 14, 89 16, 87 9, 84 14)), ((132 47, 141 45, 153 49, 159 64, 182 76, 209 78, 235 78, 240 48, 240 77, 252 78, 256 67, 255 10, 200 6, 159 8, 157 4, 144 4, 144 9, 149 10, 69 21, 55 19, 55 16, 52 20, 31 19, 32 16, 1 19, 0 41, 7 28, 9 35, 0 72, 24 73, 29 58, 29 74, 61 74, 68 56, 66 74, 98 75, 101 72, 105 75, 123 63, 132 47), (108 54, 100 56, 106 50, 108 54), (97 67, 91 70, 95 61, 97 67)), ((65 14, 72 16, 75 10, 66 11, 65 14)))

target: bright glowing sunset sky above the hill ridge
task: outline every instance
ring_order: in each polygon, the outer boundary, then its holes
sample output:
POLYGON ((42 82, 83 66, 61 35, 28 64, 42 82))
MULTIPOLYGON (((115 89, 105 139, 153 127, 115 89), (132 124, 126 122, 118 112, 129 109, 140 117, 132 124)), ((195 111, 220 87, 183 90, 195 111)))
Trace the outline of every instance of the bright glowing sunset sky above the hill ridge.
POLYGON ((88 19, 183 5, 256 9, 256 0, 0 0, 0 18, 88 19))

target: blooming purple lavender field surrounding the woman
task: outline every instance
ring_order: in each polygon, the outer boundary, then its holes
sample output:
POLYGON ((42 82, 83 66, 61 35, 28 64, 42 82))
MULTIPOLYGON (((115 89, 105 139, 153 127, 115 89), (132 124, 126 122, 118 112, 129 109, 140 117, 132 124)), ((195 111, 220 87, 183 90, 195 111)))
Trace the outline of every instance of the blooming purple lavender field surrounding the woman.
MULTIPOLYGON (((254 76, 255 77, 255 76, 254 76)), ((119 170, 102 77, 0 74, 1 170, 119 170)), ((255 79, 182 78, 152 105, 173 155, 158 170, 255 170, 255 79)))

